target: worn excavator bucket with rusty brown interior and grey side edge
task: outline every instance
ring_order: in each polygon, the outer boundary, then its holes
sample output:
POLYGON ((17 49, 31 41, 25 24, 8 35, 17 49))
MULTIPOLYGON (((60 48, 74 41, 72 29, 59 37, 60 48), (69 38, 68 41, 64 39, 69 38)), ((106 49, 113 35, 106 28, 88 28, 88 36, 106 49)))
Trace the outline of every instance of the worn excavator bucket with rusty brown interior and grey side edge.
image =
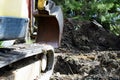
POLYGON ((38 27, 36 42, 59 47, 63 31, 63 13, 60 6, 56 6, 53 1, 48 1, 43 8, 39 8, 38 4, 38 10, 33 16, 38 27))

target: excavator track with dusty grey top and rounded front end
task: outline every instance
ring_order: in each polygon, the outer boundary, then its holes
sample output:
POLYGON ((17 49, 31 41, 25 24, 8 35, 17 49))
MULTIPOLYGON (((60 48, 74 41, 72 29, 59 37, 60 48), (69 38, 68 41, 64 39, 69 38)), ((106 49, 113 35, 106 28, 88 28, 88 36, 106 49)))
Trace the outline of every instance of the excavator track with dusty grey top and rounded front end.
POLYGON ((0 80, 49 80, 54 49, 45 44, 18 44, 0 49, 0 80))

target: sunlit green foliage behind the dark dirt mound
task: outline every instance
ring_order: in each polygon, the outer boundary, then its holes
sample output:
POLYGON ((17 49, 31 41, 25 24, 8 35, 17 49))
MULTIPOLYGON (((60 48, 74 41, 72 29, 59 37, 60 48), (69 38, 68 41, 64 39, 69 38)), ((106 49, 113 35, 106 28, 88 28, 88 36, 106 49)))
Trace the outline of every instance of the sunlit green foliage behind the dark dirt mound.
POLYGON ((96 20, 105 29, 120 36, 120 0, 54 0, 65 18, 96 20))

